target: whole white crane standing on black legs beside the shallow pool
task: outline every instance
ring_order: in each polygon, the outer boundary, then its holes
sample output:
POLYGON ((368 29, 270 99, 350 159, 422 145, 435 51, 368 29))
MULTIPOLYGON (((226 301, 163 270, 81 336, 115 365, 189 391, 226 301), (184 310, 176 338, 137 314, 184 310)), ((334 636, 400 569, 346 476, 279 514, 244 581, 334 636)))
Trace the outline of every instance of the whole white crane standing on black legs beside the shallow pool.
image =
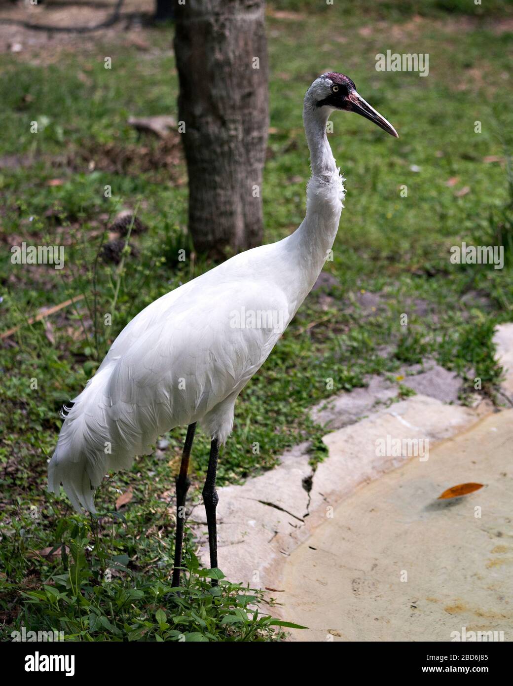
POLYGON ((333 246, 344 200, 326 137, 333 110, 356 112, 397 137, 350 78, 329 72, 316 79, 303 108, 312 170, 305 220, 287 238, 232 257, 132 319, 73 401, 49 463, 49 490, 58 493, 62 484, 76 510, 95 512, 94 489, 109 470, 128 469, 135 455, 152 451, 157 436, 188 425, 176 480, 174 586, 180 584, 196 423, 211 436, 202 493, 211 567, 217 567, 217 454, 232 430, 235 400, 305 300, 333 246))

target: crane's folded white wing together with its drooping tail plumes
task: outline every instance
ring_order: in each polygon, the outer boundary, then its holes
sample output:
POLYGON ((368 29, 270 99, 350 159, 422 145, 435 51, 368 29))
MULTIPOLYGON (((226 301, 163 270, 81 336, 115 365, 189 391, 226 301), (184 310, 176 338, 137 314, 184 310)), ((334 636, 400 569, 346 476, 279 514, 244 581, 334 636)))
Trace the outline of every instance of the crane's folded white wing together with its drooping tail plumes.
POLYGON ((58 493, 62 483, 77 510, 95 512, 104 475, 128 469, 163 431, 235 401, 287 327, 293 313, 281 289, 214 271, 134 318, 75 398, 48 484, 58 493))

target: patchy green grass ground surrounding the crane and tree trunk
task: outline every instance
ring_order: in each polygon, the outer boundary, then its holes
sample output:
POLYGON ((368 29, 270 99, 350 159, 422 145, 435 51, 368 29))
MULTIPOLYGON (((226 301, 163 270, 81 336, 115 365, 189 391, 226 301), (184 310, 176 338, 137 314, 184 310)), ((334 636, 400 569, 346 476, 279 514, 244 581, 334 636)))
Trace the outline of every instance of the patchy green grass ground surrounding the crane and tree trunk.
MULTIPOLYGON (((508 16, 510 6, 488 3, 485 23, 479 19, 484 5, 470 3, 468 11, 477 19, 462 23, 460 12, 468 3, 449 4, 422 3, 422 14, 429 16, 420 19, 413 19, 417 3, 355 10, 355 3, 335 2, 322 12, 313 2, 275 5, 299 6, 302 15, 268 20, 272 133, 263 187, 265 241, 290 233, 305 213, 309 167, 301 102, 318 73, 348 73, 400 139, 360 117, 333 114, 330 141, 347 189, 334 259, 325 268, 337 285, 309 296, 241 394, 235 430, 219 462, 219 484, 241 482, 274 466, 285 448, 305 439, 311 441, 312 461, 322 459, 323 432, 309 418, 309 407, 333 392, 363 386, 368 374, 393 374, 403 364, 434 357, 460 374, 468 390, 480 377, 482 392, 496 398, 501 369, 492 333, 497 322, 512 317, 513 193, 505 163, 484 158, 507 158, 512 149, 512 34, 497 32, 499 19, 490 21, 508 16), (446 12, 449 4, 452 11, 446 12), (319 11, 307 14, 313 9, 319 11), (388 48, 428 52, 429 77, 375 71, 375 55, 388 48), (474 132, 476 120, 482 123, 480 134, 474 132), (446 185, 453 177, 456 184, 446 185), (400 194, 403 185, 406 198, 400 194), (470 190, 458 197, 464 187, 470 190), (498 239, 506 248, 503 270, 449 261, 453 245, 498 239), (380 294, 376 311, 359 305, 361 292, 380 294), (419 303, 428 314, 417 314, 419 303), (404 313, 407 327, 401 327, 404 313)), ((183 162, 175 162, 172 146, 169 161, 169 150, 139 137, 126 123, 129 115, 176 115, 170 41, 169 29, 150 29, 151 53, 134 51, 121 40, 102 45, 100 38, 93 49, 61 51, 47 65, 44 59, 31 63, 26 55, 25 61, 1 56, 0 157, 17 155, 23 162, 0 170, 1 331, 21 324, 0 349, 0 618, 7 636, 24 624, 83 640, 281 637, 269 620, 252 614, 225 620, 239 610, 248 613, 245 596, 251 594, 227 582, 220 595, 209 590, 190 534, 185 560, 190 605, 169 591, 174 532, 169 499, 185 427, 171 431, 165 451, 137 459, 131 471, 104 482, 97 496, 102 515, 92 525, 71 513, 67 499, 45 493, 60 405, 80 392, 134 314, 212 266, 201 259, 177 261, 178 248, 187 246, 183 162), (112 70, 104 69, 104 56, 112 57, 112 70), (38 134, 29 132, 31 121, 38 121, 38 134), (60 185, 49 184, 56 179, 60 185), (112 198, 104 196, 106 185, 112 198), (137 254, 126 255, 121 272, 99 261, 95 274, 109 217, 136 206, 147 226, 130 239, 137 254), (66 267, 11 265, 10 245, 22 240, 64 244, 66 267), (27 324, 38 308, 79 294, 86 300, 76 308, 48 318, 51 330, 40 322, 27 324), (113 315, 110 327, 102 323, 106 312, 113 315), (123 514, 115 512, 117 495, 129 486, 132 501, 123 514), (58 545, 64 554, 38 554, 58 545), (80 578, 73 582, 77 566, 80 578), (116 571, 108 583, 102 580, 106 566, 116 571)), ((193 501, 200 501, 207 460, 208 440, 200 433, 193 450, 193 501)))

